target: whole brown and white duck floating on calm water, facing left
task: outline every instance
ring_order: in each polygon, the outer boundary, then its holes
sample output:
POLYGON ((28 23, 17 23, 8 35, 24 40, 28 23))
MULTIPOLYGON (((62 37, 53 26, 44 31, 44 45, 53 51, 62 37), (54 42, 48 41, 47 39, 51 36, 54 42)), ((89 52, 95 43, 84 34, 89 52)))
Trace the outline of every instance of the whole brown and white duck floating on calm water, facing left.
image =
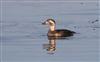
POLYGON ((47 36, 49 37, 69 37, 76 33, 68 29, 56 29, 56 22, 54 19, 47 19, 42 24, 48 25, 49 30, 47 36))

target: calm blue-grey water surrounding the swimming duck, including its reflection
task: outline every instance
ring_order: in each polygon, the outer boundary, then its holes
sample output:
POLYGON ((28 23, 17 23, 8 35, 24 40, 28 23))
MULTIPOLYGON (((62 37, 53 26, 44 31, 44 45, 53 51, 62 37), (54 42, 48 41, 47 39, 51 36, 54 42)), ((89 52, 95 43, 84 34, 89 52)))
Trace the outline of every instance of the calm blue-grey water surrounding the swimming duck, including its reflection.
MULTIPOLYGON (((2 2, 1 62, 99 62, 98 3, 2 2), (48 39, 48 18, 78 34, 48 39)), ((1 41, 0 41, 1 42, 1 41)))

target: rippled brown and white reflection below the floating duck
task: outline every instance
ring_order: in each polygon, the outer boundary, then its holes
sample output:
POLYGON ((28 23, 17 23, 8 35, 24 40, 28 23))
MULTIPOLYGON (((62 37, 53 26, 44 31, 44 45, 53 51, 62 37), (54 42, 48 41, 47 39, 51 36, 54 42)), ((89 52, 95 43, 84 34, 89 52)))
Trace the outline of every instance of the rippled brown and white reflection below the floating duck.
POLYGON ((66 39, 64 37, 49 37, 48 36, 48 44, 43 44, 43 49, 46 49, 48 51, 48 54, 54 54, 56 51, 56 40, 57 39, 66 39))

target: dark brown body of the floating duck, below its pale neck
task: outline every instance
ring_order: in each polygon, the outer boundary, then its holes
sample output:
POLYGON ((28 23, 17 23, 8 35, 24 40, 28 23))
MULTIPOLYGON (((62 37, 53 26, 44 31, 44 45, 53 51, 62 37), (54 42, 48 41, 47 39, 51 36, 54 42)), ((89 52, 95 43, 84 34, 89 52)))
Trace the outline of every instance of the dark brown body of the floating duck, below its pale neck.
POLYGON ((58 37, 68 37, 73 36, 75 32, 66 30, 66 29, 58 29, 55 31, 48 31, 48 36, 58 36, 58 37))

